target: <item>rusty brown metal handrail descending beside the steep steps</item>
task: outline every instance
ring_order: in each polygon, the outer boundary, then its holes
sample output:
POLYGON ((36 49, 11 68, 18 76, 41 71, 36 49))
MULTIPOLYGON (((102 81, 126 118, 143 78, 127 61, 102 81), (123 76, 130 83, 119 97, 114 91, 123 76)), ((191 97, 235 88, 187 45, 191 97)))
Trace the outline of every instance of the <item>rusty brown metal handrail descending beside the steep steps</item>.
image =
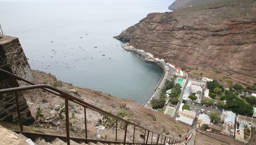
MULTIPOLYGON (((169 140, 169 143, 170 143, 170 140, 172 139, 172 144, 173 143, 178 143, 177 140, 175 138, 171 138, 170 136, 165 136, 165 135, 161 135, 161 134, 158 134, 154 131, 150 131, 142 126, 139 126, 139 125, 136 125, 135 123, 132 123, 132 122, 129 122, 129 121, 126 121, 125 119, 123 118, 120 118, 116 115, 113 115, 111 113, 108 113, 107 111, 104 111, 96 106, 93 106, 93 105, 90 105, 89 103, 86 103, 82 100, 79 100, 78 98, 76 97, 73 97, 65 92, 62 92, 61 90, 59 89, 56 89, 52 86, 49 86, 49 85, 45 85, 45 84, 34 84, 30 81, 27 81, 27 80, 24 80, 23 78, 21 77, 18 77, 16 76, 15 74, 13 73, 10 73, 10 72, 7 72, 3 69, 0 69, 0 72, 3 72, 5 74, 7 74, 8 76, 10 76, 11 78, 13 78, 13 85, 15 86, 15 80, 21 80, 21 81, 24 81, 24 82, 27 82, 28 84, 31 84, 29 86, 20 86, 20 87, 14 87, 14 88, 9 88, 9 89, 1 89, 0 90, 0 93, 10 93, 10 92, 14 92, 15 93, 15 98, 16 98, 16 106, 17 106, 17 110, 18 110, 18 116, 19 116, 19 124, 20 124, 20 131, 23 132, 23 126, 22 126, 22 120, 21 120, 21 117, 20 117, 20 110, 19 110, 19 102, 18 102, 18 97, 16 95, 16 92, 19 92, 19 91, 22 91, 22 90, 30 90, 30 89, 43 89, 43 90, 46 90, 47 92, 49 93, 52 93, 52 94, 55 94, 56 96, 59 96, 59 97, 62 97, 62 98, 65 98, 65 115, 66 115, 66 132, 67 132, 67 144, 69 145, 70 142, 69 142, 69 114, 68 114, 68 101, 72 101, 74 103, 77 103, 81 106, 84 107, 84 111, 85 111, 85 135, 86 135, 86 139, 87 139, 87 130, 86 130, 86 108, 89 108, 89 109, 92 109, 94 111, 97 111, 98 113, 100 114, 104 114, 104 115, 107 115, 109 117, 112 117, 114 119, 116 119, 116 129, 117 129, 117 122, 118 121, 122 121, 122 122, 125 122, 126 123, 126 129, 125 129, 125 136, 124 136, 124 141, 123 143, 125 144, 126 143, 126 132, 127 132, 127 126, 128 125, 132 125, 134 126, 134 134, 135 134, 135 127, 138 127, 140 129, 143 129, 145 130, 145 136, 144 136, 144 141, 146 139, 146 131, 148 132, 148 135, 150 132, 152 132, 152 134, 157 134, 158 135, 158 139, 160 136, 162 136, 162 139, 164 137, 164 143, 166 143, 166 140, 169 140), (15 79, 15 80, 14 80, 15 79), (175 140, 175 142, 174 142, 175 140)), ((146 144, 147 144, 147 141, 148 141, 148 135, 147 135, 147 140, 146 140, 146 144)), ((117 142, 117 130, 115 132, 115 142, 117 142)), ((115 143, 113 142, 113 143, 115 143)), ((179 142, 182 142, 181 140, 179 142)), ((134 143, 134 135, 133 135, 133 143, 134 143)), ((151 142, 152 143, 152 142, 151 142)), ((158 141, 156 142, 156 144, 158 144, 158 141)), ((162 140, 161 140, 161 143, 162 144, 162 140)))

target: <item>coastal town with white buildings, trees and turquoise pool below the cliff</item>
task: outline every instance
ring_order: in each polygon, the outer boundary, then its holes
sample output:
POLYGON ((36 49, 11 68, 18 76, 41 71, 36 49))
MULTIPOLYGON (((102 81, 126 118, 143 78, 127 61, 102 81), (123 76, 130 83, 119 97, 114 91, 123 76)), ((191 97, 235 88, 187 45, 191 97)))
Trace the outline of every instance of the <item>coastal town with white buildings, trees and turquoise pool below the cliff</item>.
POLYGON ((215 134, 215 138, 232 136, 242 143, 249 142, 251 132, 256 127, 256 107, 250 106, 250 113, 241 111, 240 114, 236 109, 225 106, 232 102, 228 96, 242 102, 255 100, 256 94, 251 90, 242 90, 240 84, 234 84, 232 88, 225 87, 214 78, 193 77, 177 65, 154 58, 151 53, 136 49, 129 43, 122 44, 122 47, 163 68, 162 80, 144 107, 168 114, 175 121, 191 125, 206 135, 215 134))

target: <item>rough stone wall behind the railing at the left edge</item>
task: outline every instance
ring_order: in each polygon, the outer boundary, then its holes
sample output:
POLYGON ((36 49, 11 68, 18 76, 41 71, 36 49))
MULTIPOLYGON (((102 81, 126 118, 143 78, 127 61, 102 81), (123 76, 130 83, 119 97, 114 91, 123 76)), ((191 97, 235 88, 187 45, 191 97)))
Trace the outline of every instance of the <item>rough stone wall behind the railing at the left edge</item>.
MULTIPOLYGON (((34 77, 18 38, 0 35, 0 68, 34 82, 34 77)), ((24 82, 13 80, 6 74, 0 72, 0 89, 24 85, 26 85, 24 82)), ((35 119, 31 116, 31 112, 22 92, 16 94, 19 100, 23 125, 33 123, 35 119)), ((18 123, 14 93, 0 94, 0 121, 18 123)))

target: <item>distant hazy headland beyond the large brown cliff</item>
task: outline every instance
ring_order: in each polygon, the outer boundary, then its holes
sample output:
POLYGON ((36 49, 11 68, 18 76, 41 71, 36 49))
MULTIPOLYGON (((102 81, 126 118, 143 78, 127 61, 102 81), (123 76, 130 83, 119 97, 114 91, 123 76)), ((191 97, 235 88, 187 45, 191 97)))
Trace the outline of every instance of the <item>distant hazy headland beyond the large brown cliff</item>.
POLYGON ((205 5, 208 3, 220 2, 220 1, 222 1, 222 0, 176 0, 168 8, 170 10, 177 10, 177 9, 180 9, 181 7, 205 5))

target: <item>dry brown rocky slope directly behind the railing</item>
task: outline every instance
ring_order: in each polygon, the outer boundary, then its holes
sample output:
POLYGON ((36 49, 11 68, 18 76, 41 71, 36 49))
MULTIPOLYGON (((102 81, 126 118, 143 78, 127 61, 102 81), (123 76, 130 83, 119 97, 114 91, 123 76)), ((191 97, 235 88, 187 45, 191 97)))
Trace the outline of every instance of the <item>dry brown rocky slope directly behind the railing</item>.
MULTIPOLYGON (((110 94, 98 92, 95 90, 79 88, 68 84, 66 82, 58 81, 55 76, 49 73, 44 73, 40 71, 32 71, 35 77, 36 84, 48 84, 55 86, 56 88, 63 90, 64 92, 71 94, 85 102, 88 102, 96 107, 103 110, 109 111, 115 115, 121 113, 124 115, 124 119, 131 122, 137 123, 149 130, 159 132, 160 134, 175 136, 179 138, 179 134, 184 136, 191 131, 191 126, 185 125, 181 122, 175 122, 173 118, 169 115, 159 113, 158 111, 147 109, 140 104, 126 100, 123 98, 113 97, 110 94)), ((52 132, 59 131, 59 133, 64 134, 65 132, 65 121, 64 119, 56 118, 57 111, 64 104, 64 100, 58 96, 49 94, 43 90, 30 90, 23 92, 24 97, 28 102, 31 114, 36 115, 38 107, 42 109, 42 114, 44 115, 44 121, 39 123, 39 127, 42 129, 53 129, 52 132), (54 118, 54 119, 52 119, 54 118), (48 122, 49 121, 49 122, 48 122)), ((84 109, 75 103, 69 102, 69 110, 71 112, 71 130, 73 136, 84 136, 84 109)), ((62 114, 64 116, 64 113, 62 114)), ((92 110, 87 110, 86 113, 89 137, 96 139, 95 127, 98 125, 98 121, 102 118, 101 114, 96 113, 92 110)), ((102 139, 114 139, 114 127, 108 127, 103 131, 100 131, 102 139)), ((133 127, 128 127, 128 139, 131 140, 133 134, 133 127)), ((50 132, 50 131, 47 131, 50 132)), ((122 140, 124 130, 122 125, 118 125, 118 137, 122 140)), ((136 132, 137 139, 142 139, 139 137, 143 134, 143 130, 138 130, 136 132)))

